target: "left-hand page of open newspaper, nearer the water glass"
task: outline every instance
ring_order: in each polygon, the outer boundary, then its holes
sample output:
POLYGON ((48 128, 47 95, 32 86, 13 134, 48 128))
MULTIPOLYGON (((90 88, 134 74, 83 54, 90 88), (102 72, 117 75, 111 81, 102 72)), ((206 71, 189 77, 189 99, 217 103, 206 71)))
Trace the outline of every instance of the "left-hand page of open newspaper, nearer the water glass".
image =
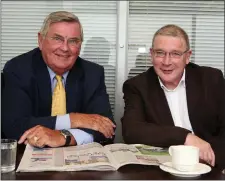
POLYGON ((115 170, 98 143, 60 148, 27 145, 17 172, 115 170))

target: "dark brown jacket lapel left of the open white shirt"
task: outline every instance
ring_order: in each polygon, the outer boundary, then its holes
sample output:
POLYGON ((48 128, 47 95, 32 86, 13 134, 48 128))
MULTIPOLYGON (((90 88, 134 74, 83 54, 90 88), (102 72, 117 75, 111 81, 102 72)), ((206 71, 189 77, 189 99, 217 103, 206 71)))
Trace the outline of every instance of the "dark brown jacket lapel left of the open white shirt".
POLYGON ((172 114, 165 93, 159 84, 158 76, 153 67, 150 68, 147 73, 147 80, 149 82, 148 92, 151 93, 148 94, 149 101, 147 102, 151 102, 151 105, 149 105, 150 109, 154 109, 153 111, 155 111, 154 114, 158 118, 158 123, 172 126, 174 125, 172 114))

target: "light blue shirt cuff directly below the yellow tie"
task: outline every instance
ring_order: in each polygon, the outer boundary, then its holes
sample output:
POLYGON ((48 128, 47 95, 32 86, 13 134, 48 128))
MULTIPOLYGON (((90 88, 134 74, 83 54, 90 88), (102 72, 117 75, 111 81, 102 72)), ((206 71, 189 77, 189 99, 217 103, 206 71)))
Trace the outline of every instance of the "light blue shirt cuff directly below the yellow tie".
POLYGON ((70 129, 70 128, 71 124, 69 114, 57 116, 55 123, 55 130, 70 129))

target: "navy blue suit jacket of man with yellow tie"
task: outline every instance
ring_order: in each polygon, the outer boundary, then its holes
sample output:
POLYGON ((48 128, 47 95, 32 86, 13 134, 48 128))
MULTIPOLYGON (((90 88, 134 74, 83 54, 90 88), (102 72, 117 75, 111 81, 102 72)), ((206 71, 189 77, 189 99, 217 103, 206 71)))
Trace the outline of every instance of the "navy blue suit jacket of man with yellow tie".
MULTIPOLYGON (((3 72, 2 127, 6 137, 19 139, 36 125, 54 129, 56 117, 51 116, 51 82, 41 51, 36 48, 13 58, 6 63, 3 72)), ((78 57, 68 74, 65 89, 67 113, 100 114, 113 120, 102 66, 78 57)), ((96 142, 111 141, 100 132, 83 130, 93 134, 96 142)))

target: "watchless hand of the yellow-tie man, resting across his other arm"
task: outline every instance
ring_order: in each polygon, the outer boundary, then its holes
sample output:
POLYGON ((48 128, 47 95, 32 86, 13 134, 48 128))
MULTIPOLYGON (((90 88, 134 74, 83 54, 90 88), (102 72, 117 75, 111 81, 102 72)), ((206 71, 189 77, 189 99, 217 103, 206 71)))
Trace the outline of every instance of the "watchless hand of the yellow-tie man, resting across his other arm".
POLYGON ((112 138, 115 124, 98 114, 70 113, 71 128, 88 128, 101 132, 106 138, 112 138))

